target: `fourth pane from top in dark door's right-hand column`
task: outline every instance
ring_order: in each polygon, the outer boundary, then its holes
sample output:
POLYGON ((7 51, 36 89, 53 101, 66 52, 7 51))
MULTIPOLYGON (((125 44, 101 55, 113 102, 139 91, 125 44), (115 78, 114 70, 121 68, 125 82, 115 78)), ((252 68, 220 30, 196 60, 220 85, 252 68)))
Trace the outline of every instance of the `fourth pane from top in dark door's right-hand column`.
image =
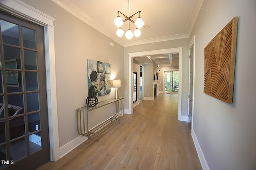
POLYGON ((39 93, 27 94, 28 112, 39 110, 39 93))

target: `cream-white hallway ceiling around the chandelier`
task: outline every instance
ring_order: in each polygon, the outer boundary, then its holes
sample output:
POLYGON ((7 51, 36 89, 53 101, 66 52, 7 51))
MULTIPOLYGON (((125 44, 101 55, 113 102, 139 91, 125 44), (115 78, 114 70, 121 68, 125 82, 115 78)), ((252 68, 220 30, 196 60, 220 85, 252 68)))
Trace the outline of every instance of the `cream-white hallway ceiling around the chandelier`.
MULTIPOLYGON (((126 39, 116 35, 118 29, 114 19, 118 11, 129 16, 128 0, 52 0, 80 20, 94 27, 113 41, 127 47, 145 43, 188 38, 204 0, 130 0, 130 16, 141 11, 140 16, 145 25, 141 28, 140 37, 126 39)), ((121 16, 122 17, 122 16, 121 16)), ((136 20, 138 15, 132 20, 136 20)), ((125 18, 122 17, 124 20, 125 18)), ((124 32, 128 29, 128 21, 122 25, 124 32)), ((130 29, 136 29, 130 23, 130 29)), ((154 56, 155 59, 157 56, 154 56)), ((158 56, 161 60, 169 56, 158 56)), ((159 59, 160 60, 160 59, 159 59)), ((159 61, 160 62, 160 61, 159 61)), ((170 63, 170 61, 169 61, 170 63)))

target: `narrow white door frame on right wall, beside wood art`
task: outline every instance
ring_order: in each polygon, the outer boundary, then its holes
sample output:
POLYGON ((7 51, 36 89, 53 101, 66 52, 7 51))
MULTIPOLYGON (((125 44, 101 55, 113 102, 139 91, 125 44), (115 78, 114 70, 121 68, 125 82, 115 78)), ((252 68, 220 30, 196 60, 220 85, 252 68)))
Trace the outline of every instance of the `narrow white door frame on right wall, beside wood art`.
MULTIPOLYGON (((190 55, 190 48, 192 47, 193 45, 193 87, 192 87, 192 118, 191 118, 191 129, 193 127, 193 117, 194 117, 194 91, 195 91, 195 86, 194 86, 194 82, 195 82, 195 57, 196 57, 196 36, 194 35, 193 38, 191 39, 189 45, 188 45, 188 54, 190 55)), ((189 58, 188 58, 189 59, 189 58)), ((188 75, 190 75, 190 59, 189 59, 189 68, 188 68, 188 75)), ((190 81, 188 81, 188 95, 190 94, 190 81)), ((190 101, 190 98, 188 98, 188 115, 189 115, 189 101, 190 101)), ((188 117, 189 119, 189 117, 188 117)))

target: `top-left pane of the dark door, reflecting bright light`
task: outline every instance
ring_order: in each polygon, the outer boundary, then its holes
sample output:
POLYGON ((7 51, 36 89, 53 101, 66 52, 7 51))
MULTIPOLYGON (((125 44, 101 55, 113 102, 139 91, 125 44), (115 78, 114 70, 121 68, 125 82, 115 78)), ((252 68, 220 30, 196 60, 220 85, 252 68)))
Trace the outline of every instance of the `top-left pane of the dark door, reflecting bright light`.
POLYGON ((18 25, 0 20, 3 43, 20 45, 18 25))

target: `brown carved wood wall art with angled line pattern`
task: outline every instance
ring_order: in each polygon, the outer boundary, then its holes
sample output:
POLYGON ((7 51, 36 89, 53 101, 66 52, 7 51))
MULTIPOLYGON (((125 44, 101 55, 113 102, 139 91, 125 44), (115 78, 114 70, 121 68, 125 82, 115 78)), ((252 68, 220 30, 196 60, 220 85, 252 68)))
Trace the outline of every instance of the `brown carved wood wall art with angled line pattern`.
POLYGON ((204 93, 233 102, 238 17, 233 18, 204 48, 204 93))

